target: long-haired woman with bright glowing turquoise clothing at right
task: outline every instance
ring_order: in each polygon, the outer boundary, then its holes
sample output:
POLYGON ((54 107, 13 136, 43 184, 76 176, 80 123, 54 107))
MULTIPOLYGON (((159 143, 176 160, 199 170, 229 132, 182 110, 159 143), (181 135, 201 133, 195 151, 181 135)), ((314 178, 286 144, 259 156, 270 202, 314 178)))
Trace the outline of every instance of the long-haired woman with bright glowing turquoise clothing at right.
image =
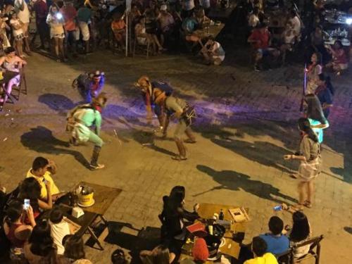
POLYGON ((329 122, 325 118, 322 111, 322 106, 318 96, 315 94, 306 95, 305 101, 307 103, 305 116, 310 122, 310 128, 313 129, 315 134, 318 136, 318 141, 321 144, 323 139, 323 131, 329 127, 329 122))

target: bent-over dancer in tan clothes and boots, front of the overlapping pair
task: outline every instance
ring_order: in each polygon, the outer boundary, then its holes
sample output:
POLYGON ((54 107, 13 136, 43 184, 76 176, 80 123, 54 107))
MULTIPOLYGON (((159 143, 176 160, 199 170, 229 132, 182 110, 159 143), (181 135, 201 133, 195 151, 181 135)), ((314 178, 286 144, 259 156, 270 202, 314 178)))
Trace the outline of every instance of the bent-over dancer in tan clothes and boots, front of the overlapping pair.
POLYGON ((163 134, 166 134, 168 130, 171 116, 178 120, 174 140, 179 154, 172 158, 176 161, 185 161, 187 160, 187 153, 186 147, 182 141, 182 134, 185 133, 188 137, 184 142, 196 143, 196 139, 190 127, 192 122, 194 122, 194 118, 196 118, 196 111, 194 111, 194 108, 189 106, 186 101, 174 96, 166 96, 165 92, 156 91, 154 96, 155 103, 161 108, 164 108, 166 113, 166 118, 164 118, 163 123, 163 134))

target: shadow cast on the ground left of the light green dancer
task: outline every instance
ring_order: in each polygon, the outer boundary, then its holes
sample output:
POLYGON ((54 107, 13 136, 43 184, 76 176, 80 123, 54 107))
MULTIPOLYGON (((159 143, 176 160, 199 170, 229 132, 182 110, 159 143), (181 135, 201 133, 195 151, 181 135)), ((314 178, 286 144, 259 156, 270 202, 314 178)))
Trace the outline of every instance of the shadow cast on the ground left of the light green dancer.
POLYGON ((53 132, 46 127, 38 126, 31 128, 30 132, 25 132, 21 135, 21 143, 23 146, 47 154, 68 154, 75 157, 75 160, 81 163, 84 167, 89 168, 89 162, 84 158, 82 153, 71 149, 68 142, 57 139, 53 136, 53 132))

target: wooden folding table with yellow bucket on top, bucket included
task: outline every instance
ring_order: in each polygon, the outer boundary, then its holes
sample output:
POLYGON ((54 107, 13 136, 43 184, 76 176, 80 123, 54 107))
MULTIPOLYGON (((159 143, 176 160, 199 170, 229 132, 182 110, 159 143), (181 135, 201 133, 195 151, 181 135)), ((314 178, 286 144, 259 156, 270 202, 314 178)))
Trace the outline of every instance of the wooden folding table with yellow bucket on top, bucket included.
POLYGON ((121 191, 121 189, 88 182, 77 184, 72 192, 72 206, 61 206, 75 234, 82 237, 88 233, 94 244, 103 250, 101 242, 108 235, 108 221, 104 218, 104 214, 121 191), (99 235, 93 230, 98 224, 102 224, 99 235))

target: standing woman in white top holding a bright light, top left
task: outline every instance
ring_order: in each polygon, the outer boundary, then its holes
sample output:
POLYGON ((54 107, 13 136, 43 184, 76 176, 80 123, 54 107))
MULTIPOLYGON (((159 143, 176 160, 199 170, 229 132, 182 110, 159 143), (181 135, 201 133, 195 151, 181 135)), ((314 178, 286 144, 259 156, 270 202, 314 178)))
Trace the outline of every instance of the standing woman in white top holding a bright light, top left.
POLYGON ((50 38, 54 39, 56 61, 61 62, 61 58, 65 61, 65 52, 63 51, 63 39, 65 39, 63 25, 65 21, 56 4, 51 5, 46 23, 50 26, 50 38))

